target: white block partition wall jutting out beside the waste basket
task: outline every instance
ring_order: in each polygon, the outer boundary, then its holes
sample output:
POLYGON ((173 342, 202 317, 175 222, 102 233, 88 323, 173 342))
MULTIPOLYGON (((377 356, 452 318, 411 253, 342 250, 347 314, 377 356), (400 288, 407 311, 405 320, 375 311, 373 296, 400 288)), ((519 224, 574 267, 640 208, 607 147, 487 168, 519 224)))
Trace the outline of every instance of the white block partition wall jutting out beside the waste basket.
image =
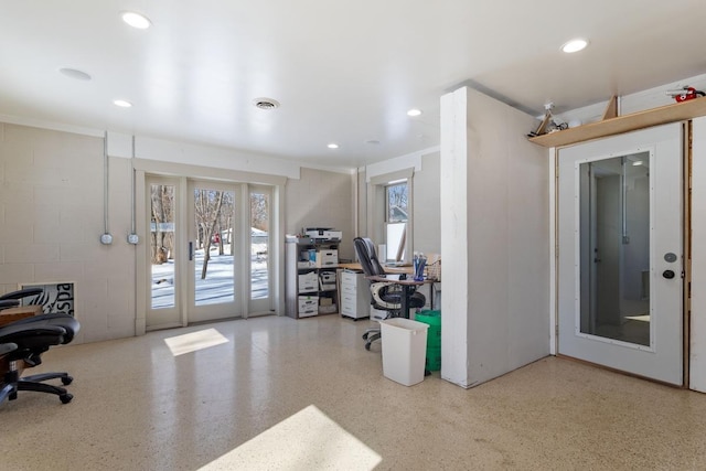
POLYGON ((451 95, 441 101, 441 374, 474 386, 549 353, 549 181, 546 151, 525 137, 533 117, 474 90, 451 95))

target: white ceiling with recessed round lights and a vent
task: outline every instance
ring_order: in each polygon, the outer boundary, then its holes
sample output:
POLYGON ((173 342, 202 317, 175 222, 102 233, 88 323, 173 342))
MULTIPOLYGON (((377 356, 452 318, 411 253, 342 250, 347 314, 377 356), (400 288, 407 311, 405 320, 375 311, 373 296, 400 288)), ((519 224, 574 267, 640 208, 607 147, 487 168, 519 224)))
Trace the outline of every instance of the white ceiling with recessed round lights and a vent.
POLYGON ((438 146, 460 85, 560 113, 703 74, 705 51, 704 0, 0 0, 0 115, 354 167, 438 146))

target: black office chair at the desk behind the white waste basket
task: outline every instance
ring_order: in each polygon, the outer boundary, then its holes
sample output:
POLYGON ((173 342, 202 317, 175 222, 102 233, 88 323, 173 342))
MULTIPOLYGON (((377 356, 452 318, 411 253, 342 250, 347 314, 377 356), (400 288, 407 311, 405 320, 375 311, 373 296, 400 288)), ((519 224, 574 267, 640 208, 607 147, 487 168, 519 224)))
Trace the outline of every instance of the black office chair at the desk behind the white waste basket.
MULTIPOLYGON (((386 311, 386 314, 382 319, 391 317, 407 317, 408 312, 402 312, 402 297, 405 290, 400 285, 395 283, 394 275, 386 275, 385 269, 377 259, 377 253, 375 251, 375 244, 373 240, 366 237, 355 237, 353 239, 355 246, 355 254, 361 263, 363 272, 366 277, 384 276, 389 277, 389 282, 371 281, 371 304, 375 309, 386 311)), ((416 292, 413 289, 408 291, 409 299, 407 306, 409 308, 421 308, 426 302, 426 298, 420 292, 416 292)), ((379 328, 372 328, 365 331, 363 340, 365 341, 365 350, 371 350, 371 344, 379 339, 379 328)))

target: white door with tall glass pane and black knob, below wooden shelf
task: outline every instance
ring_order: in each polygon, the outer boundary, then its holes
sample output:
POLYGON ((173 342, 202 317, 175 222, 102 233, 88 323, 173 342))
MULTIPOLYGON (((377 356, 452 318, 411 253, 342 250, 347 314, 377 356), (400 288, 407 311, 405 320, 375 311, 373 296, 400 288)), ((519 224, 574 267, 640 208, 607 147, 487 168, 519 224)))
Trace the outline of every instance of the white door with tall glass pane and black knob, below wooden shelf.
POLYGON ((683 383, 683 130, 559 151, 558 353, 683 383))

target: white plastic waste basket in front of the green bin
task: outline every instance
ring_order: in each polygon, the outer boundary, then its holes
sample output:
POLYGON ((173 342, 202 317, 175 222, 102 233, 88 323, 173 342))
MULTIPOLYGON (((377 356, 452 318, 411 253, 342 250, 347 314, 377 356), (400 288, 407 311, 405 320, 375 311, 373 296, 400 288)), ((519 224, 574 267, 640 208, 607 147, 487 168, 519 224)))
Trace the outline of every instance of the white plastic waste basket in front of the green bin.
POLYGON ((424 381, 429 324, 406 318, 379 321, 383 375, 405 386, 424 381))

